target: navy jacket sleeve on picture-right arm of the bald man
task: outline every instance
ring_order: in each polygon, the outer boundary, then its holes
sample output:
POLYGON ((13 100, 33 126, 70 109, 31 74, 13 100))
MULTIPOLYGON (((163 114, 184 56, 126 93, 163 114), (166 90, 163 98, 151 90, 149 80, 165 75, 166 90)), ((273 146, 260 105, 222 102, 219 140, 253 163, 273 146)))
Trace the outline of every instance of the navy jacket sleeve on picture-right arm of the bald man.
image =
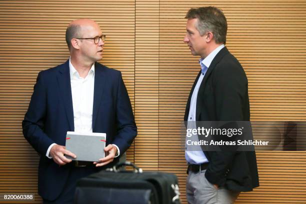
POLYGON ((135 124, 132 107, 125 88, 121 72, 118 74, 116 101, 116 126, 117 134, 115 135, 113 144, 116 144, 120 150, 120 154, 124 153, 137 135, 137 127, 135 124))

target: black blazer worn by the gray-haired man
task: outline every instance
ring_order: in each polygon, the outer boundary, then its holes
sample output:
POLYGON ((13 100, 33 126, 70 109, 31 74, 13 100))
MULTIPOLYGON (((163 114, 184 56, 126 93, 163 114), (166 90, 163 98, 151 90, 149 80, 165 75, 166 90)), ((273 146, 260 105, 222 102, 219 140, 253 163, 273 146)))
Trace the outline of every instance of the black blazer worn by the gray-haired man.
MULTIPOLYGON (((187 121, 190 99, 186 105, 187 121)), ((247 78, 239 61, 222 48, 212 60, 200 84, 196 99, 196 121, 248 121, 247 78)), ((201 138, 199 138, 201 139, 201 138)), ((230 190, 250 191, 259 186, 254 151, 205 151, 209 164, 207 180, 230 190)))

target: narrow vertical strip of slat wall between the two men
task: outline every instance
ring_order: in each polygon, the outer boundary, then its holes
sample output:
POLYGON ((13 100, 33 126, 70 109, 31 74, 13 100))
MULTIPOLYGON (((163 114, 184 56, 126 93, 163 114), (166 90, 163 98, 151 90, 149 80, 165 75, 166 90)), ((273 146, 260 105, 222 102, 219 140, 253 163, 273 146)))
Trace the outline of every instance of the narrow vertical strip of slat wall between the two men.
POLYGON ((135 164, 158 170, 158 0, 135 1, 135 164))

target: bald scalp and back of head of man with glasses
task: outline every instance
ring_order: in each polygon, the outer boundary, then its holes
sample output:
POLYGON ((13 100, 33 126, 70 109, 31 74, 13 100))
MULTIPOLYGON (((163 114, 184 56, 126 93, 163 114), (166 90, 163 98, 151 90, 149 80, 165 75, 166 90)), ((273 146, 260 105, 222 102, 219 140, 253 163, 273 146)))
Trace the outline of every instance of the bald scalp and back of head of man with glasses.
POLYGON ((71 39, 83 37, 86 28, 90 27, 99 27, 99 25, 95 21, 87 18, 76 19, 69 23, 66 29, 66 42, 69 50, 72 47, 71 39))

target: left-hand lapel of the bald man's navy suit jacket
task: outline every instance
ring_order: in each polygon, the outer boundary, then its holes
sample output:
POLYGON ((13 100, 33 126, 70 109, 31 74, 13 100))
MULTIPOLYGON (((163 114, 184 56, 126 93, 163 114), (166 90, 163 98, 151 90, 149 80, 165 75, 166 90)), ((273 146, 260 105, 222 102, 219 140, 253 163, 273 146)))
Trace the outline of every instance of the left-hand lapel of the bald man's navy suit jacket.
POLYGON ((66 116, 70 129, 74 131, 74 121, 73 121, 73 104, 72 104, 72 93, 71 93, 71 83, 70 83, 70 72, 69 72, 69 60, 67 60, 59 68, 57 74, 57 82, 59 86, 59 92, 63 99, 63 104, 65 107, 66 116))

